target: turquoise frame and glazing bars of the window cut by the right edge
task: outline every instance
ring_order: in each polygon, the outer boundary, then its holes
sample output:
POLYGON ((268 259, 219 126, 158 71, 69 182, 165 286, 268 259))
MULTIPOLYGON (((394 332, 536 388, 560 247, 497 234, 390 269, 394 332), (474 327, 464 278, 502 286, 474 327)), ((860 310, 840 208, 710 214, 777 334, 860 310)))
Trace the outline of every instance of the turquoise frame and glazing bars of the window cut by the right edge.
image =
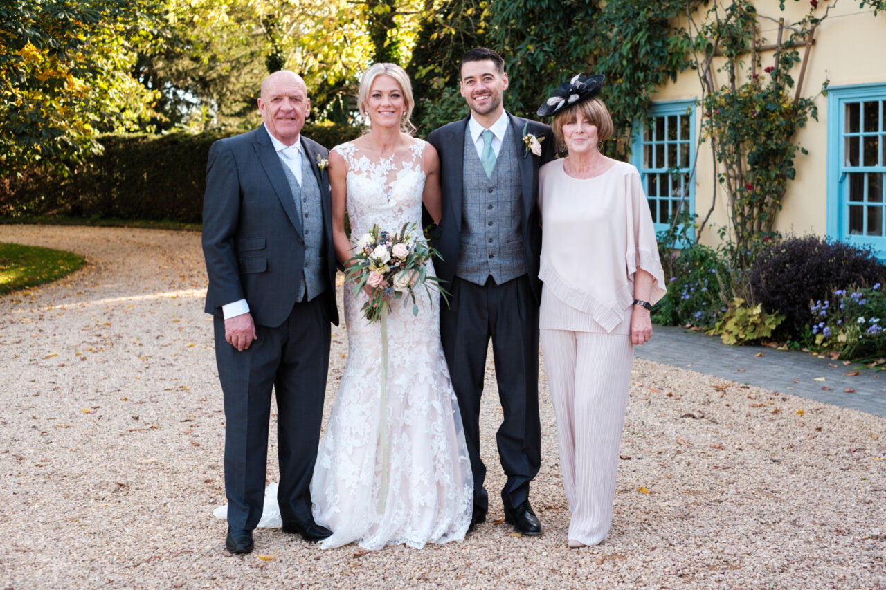
MULTIPOLYGON (((856 188, 858 188, 856 184, 856 188)), ((858 84, 828 89, 828 194, 826 231, 829 238, 843 240, 856 245, 868 245, 874 248, 881 260, 886 260, 886 83, 858 84), (847 106, 854 103, 877 103, 879 118, 875 131, 865 131, 864 119, 859 109, 859 130, 852 132, 847 129, 847 106), (864 142, 866 138, 877 138, 877 163, 865 165, 864 142), (859 162, 852 166, 847 162, 846 147, 853 141, 859 141, 859 162), (858 182, 860 175, 861 187, 850 194, 852 182, 858 182), (879 195, 871 186, 870 181, 879 178, 879 195), (873 198, 872 198, 873 197, 873 198), (851 223, 858 226, 860 211, 860 227, 863 233, 853 233, 851 223), (851 220, 853 213, 855 220, 851 220), (872 217, 873 221, 872 221, 872 217), (880 235, 869 235, 867 232, 879 219, 880 235)))

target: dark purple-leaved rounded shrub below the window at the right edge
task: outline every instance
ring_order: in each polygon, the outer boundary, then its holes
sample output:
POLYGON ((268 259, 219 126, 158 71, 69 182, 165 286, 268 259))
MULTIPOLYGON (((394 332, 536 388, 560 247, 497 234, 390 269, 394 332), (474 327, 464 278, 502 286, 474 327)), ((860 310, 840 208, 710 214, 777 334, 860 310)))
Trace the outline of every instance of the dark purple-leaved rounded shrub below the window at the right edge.
POLYGON ((869 248, 815 236, 787 237, 760 250, 748 278, 755 301, 785 315, 778 334, 796 337, 812 320, 811 302, 849 285, 886 283, 886 267, 869 248))

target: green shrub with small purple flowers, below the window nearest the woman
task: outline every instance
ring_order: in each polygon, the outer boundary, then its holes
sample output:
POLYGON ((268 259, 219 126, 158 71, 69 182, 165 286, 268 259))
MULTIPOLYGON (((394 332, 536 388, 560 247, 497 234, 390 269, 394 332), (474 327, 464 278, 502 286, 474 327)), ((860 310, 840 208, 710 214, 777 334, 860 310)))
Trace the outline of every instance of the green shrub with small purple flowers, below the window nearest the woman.
POLYGON ((729 269, 712 248, 692 244, 663 259, 670 270, 667 294, 656 305, 653 321, 709 329, 730 299, 729 269))

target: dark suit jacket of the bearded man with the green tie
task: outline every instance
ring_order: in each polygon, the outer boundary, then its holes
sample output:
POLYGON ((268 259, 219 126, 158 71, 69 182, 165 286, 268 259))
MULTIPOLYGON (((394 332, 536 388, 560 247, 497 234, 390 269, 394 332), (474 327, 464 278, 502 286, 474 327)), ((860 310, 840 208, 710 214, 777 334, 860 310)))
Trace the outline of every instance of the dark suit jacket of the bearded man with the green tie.
MULTIPOLYGON (((515 117, 508 113, 511 141, 517 143, 520 182, 523 186, 523 250, 529 283, 537 301, 541 300, 539 280, 539 256, 541 253, 541 228, 539 225, 539 167, 556 157, 556 142, 551 128, 544 123, 515 117), (525 158, 523 143, 526 134, 544 137, 541 157, 529 153, 525 158), (536 161, 538 160, 538 161, 536 161)), ((440 189, 442 190, 442 214, 433 234, 433 245, 443 260, 435 260, 434 268, 440 278, 452 283, 458 263, 458 247, 462 239, 462 172, 464 167, 464 135, 468 133, 468 117, 435 129, 428 142, 439 153, 442 165, 440 189)))

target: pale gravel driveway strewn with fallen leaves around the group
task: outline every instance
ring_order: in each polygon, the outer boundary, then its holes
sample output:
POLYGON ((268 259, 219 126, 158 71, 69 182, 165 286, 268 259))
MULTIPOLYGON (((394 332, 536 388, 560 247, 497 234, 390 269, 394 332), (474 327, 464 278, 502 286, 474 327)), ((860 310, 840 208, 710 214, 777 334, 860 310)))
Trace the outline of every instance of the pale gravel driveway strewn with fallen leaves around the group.
MULTIPOLYGON (((0 298, 2 588, 886 588, 886 419, 641 360, 599 547, 565 546, 544 382, 544 534, 501 524, 490 361, 493 502, 464 542, 364 553, 260 529, 253 554, 229 556, 212 516, 224 414, 199 235, 4 225, 0 242, 88 260, 0 298)), ((333 334, 327 412, 346 360, 346 330, 333 334)))

